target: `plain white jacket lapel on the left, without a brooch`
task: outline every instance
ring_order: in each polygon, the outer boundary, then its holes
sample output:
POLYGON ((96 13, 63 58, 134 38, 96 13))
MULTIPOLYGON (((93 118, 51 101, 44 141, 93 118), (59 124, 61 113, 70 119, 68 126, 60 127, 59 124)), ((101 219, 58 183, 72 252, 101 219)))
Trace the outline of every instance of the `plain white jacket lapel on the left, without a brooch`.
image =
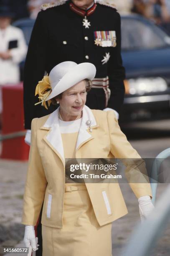
MULTIPOLYGON (((65 158, 64 158, 64 150, 63 150, 63 142, 61 138, 61 132, 60 132, 60 125, 58 120, 58 112, 60 108, 57 108, 49 118, 46 120, 46 123, 43 125, 44 128, 51 128, 49 133, 44 137, 44 140, 52 146, 52 149, 54 148, 58 154, 58 156, 61 158, 61 161, 63 164, 65 164, 65 158)), ((49 145, 49 146, 50 146, 49 145)))

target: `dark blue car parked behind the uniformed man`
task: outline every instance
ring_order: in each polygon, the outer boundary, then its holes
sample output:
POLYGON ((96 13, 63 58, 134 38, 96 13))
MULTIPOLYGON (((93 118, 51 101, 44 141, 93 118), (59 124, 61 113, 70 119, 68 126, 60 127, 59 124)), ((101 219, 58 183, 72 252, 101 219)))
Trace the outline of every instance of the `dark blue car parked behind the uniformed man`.
MULTIPOLYGON (((13 25, 27 43, 34 20, 13 25)), ((140 15, 122 16, 122 58, 126 68, 126 95, 120 120, 170 117, 170 37, 140 15)), ((23 63, 21 64, 23 78, 23 63)))

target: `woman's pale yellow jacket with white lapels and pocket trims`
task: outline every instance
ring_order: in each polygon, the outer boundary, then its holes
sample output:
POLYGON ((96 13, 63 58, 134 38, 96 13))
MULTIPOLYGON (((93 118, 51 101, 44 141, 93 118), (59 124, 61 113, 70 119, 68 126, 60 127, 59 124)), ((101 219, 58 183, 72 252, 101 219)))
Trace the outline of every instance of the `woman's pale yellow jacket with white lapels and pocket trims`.
MULTIPOLYGON (((65 159, 58 110, 32 120, 22 217, 25 225, 36 225, 44 201, 41 223, 62 228, 65 159)), ((72 150, 71 145, 68 146, 72 150)), ((76 159, 82 158, 139 159, 140 156, 120 130, 114 111, 90 110, 84 106, 76 144, 76 159), (92 132, 86 125, 87 120, 91 120, 92 132)), ((144 179, 139 166, 145 169, 142 159, 133 168, 127 166, 129 181, 132 175, 144 179)), ((129 185, 137 198, 145 195, 152 197, 149 182, 129 185)), ((111 223, 127 214, 118 183, 86 183, 86 187, 99 225, 111 223)))

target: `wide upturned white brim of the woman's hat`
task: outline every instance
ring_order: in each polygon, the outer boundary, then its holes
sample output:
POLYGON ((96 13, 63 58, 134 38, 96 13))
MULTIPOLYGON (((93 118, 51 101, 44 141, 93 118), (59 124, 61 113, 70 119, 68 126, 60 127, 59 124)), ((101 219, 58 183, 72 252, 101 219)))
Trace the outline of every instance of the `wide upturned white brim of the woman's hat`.
POLYGON ((89 62, 78 64, 61 78, 61 80, 55 85, 51 94, 47 97, 46 101, 51 100, 53 97, 56 97, 84 79, 93 80, 95 75, 96 67, 93 64, 89 62))

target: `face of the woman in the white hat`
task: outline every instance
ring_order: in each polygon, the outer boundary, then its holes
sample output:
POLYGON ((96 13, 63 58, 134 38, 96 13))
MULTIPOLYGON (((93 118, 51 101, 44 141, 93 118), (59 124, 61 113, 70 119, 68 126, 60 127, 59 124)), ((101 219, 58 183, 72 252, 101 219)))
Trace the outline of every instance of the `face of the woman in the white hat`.
POLYGON ((86 103, 86 82, 75 84, 62 93, 62 98, 56 100, 60 103, 60 111, 63 120, 75 120, 75 116, 79 115, 86 103))

